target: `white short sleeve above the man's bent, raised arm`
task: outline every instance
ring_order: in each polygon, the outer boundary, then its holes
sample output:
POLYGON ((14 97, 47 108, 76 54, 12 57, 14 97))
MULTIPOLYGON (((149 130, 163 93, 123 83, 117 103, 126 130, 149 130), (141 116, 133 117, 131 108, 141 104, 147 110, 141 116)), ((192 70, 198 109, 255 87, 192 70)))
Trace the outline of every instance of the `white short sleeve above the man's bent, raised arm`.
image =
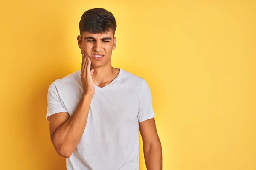
POLYGON ((59 113, 59 112, 67 112, 67 110, 64 108, 64 106, 61 103, 60 99, 60 89, 58 85, 55 82, 52 82, 52 84, 48 88, 48 94, 47 94, 47 113, 46 113, 46 119, 49 121, 49 116, 59 113))

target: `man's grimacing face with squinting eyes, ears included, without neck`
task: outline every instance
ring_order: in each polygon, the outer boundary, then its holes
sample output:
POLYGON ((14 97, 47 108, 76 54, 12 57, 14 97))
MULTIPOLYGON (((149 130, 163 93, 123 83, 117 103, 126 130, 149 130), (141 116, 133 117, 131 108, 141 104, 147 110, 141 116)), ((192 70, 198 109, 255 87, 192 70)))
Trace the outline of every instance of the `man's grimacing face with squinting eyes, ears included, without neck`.
POLYGON ((94 68, 111 65, 112 50, 116 48, 116 37, 113 38, 112 31, 104 34, 92 34, 85 31, 82 37, 83 40, 80 35, 77 37, 78 46, 81 53, 85 51, 85 54, 89 56, 94 68), (99 55, 103 55, 103 57, 99 57, 99 55))

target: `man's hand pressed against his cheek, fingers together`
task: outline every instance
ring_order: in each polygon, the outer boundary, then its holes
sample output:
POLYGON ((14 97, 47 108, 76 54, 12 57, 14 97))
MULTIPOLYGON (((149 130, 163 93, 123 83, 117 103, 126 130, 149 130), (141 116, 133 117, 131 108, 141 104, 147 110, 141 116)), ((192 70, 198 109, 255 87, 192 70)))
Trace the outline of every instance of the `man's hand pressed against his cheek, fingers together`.
POLYGON ((92 74, 94 72, 94 69, 91 68, 91 60, 89 56, 85 53, 82 53, 83 59, 82 59, 82 69, 81 69, 81 80, 83 84, 83 89, 84 89, 84 95, 85 94, 90 94, 94 95, 95 93, 95 88, 94 88, 94 81, 92 74))

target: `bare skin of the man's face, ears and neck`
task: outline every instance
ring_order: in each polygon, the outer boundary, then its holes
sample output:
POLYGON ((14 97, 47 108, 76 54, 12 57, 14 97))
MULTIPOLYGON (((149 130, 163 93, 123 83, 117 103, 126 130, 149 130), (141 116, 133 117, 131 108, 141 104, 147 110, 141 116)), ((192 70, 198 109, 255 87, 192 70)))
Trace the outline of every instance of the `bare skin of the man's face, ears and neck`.
POLYGON ((81 54, 87 54, 91 60, 90 67, 94 70, 92 74, 94 84, 99 87, 110 84, 119 73, 119 69, 111 66, 112 51, 116 48, 116 37, 113 36, 113 31, 102 34, 84 31, 82 37, 77 36, 78 47, 81 49, 81 54), (105 56, 102 59, 95 59, 92 57, 94 53, 105 56))

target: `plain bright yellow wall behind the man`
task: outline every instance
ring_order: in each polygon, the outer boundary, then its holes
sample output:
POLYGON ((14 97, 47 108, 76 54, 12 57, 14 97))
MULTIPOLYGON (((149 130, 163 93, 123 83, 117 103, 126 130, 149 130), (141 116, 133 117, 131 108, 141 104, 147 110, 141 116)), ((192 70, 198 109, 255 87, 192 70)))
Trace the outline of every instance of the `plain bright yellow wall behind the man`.
POLYGON ((117 20, 113 66, 151 88, 163 169, 256 170, 253 0, 1 0, 0 169, 65 169, 47 89, 80 69, 78 23, 97 7, 117 20))

